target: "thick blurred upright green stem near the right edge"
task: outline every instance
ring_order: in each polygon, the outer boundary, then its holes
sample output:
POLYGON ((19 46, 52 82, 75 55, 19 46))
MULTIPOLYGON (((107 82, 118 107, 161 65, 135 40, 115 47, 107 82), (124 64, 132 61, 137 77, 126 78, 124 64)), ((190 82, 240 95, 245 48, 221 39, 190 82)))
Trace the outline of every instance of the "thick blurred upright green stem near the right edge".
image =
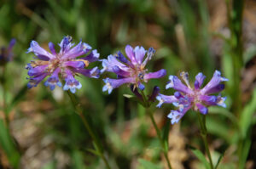
MULTIPOLYGON (((241 117, 242 112, 242 102, 241 102, 241 69, 244 65, 243 63, 243 44, 242 44, 242 23, 243 23, 243 10, 245 1, 236 0, 232 3, 227 2, 227 6, 230 8, 229 12, 229 22, 230 22, 230 32, 231 32, 231 56, 233 62, 233 83, 230 87, 231 97, 234 98, 233 104, 231 106, 231 111, 241 117)), ((240 138, 238 140, 237 154, 239 159, 242 159, 243 149, 244 149, 245 139, 240 138)), ((243 161, 238 161, 237 168, 245 168, 243 161)))

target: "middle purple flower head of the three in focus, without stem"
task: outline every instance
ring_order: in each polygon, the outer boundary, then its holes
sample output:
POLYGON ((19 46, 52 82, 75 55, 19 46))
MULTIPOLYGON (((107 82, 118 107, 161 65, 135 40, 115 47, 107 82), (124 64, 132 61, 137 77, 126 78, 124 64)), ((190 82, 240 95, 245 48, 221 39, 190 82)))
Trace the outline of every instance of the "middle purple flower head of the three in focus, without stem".
POLYGON ((118 52, 114 56, 109 55, 108 59, 102 59, 103 69, 101 71, 110 71, 118 76, 117 79, 103 79, 106 83, 102 89, 103 92, 108 90, 108 93, 111 93, 113 88, 125 83, 133 84, 133 90, 136 87, 143 90, 143 82, 148 82, 148 79, 165 76, 166 70, 162 69, 147 73, 148 70, 145 69, 148 60, 152 59, 154 52, 154 48, 148 48, 147 51, 143 47, 137 46, 136 48, 132 48, 130 45, 127 45, 125 47, 125 53, 128 59, 121 52, 118 52), (146 54, 147 57, 144 59, 146 54))

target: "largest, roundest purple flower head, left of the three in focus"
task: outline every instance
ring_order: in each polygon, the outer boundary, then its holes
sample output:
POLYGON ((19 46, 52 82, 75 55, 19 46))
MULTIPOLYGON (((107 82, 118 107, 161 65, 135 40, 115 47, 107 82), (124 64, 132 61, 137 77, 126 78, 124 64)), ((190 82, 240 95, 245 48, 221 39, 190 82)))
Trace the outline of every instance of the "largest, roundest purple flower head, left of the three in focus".
POLYGON ((54 90, 55 86, 62 87, 61 79, 65 81, 63 90, 70 90, 72 93, 82 85, 74 76, 82 74, 93 78, 98 78, 100 70, 95 67, 93 69, 84 69, 90 62, 98 60, 100 54, 96 49, 91 51, 90 45, 79 42, 73 47, 72 37, 64 37, 59 44, 60 52, 55 52, 55 45, 49 42, 50 53, 38 45, 38 42, 32 41, 27 53, 33 52, 37 60, 32 60, 26 65, 27 74, 30 76, 27 87, 37 87, 38 83, 43 81, 46 76, 49 76, 44 85, 54 90), (72 48, 73 47, 73 48, 72 48), (85 57, 79 57, 87 54, 85 57), (79 58, 78 58, 79 57, 79 58))

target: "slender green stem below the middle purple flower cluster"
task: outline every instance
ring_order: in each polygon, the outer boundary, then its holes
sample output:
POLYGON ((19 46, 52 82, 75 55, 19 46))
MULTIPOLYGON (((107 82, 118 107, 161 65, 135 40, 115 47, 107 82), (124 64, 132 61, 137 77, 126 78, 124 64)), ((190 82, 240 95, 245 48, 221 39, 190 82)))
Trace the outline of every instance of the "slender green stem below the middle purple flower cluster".
POLYGON ((168 157, 168 149, 166 149, 165 142, 164 142, 163 138, 161 137, 160 129, 159 129, 159 127, 157 127, 156 122, 154 121, 154 115, 153 115, 152 111, 147 108, 147 107, 150 106, 150 104, 148 103, 148 101, 146 99, 145 93, 143 91, 141 93, 143 95, 143 102, 145 104, 145 108, 148 111, 150 120, 152 121, 153 126, 154 126, 154 130, 156 131, 157 137, 160 140, 160 145, 162 147, 162 151, 163 151, 164 156, 166 158, 168 168, 172 169, 171 162, 169 161, 169 157, 168 157))

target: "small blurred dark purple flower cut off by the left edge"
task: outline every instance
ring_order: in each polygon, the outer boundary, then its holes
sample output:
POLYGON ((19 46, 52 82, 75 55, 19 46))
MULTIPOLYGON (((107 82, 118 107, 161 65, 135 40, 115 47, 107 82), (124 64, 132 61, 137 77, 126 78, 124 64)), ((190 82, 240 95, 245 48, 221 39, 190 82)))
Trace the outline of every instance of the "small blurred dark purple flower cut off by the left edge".
POLYGON ((13 52, 12 49, 15 46, 15 38, 13 38, 10 42, 9 42, 9 47, 5 48, 2 47, 1 51, 0 51, 0 65, 5 65, 7 62, 11 61, 13 59, 13 52))

